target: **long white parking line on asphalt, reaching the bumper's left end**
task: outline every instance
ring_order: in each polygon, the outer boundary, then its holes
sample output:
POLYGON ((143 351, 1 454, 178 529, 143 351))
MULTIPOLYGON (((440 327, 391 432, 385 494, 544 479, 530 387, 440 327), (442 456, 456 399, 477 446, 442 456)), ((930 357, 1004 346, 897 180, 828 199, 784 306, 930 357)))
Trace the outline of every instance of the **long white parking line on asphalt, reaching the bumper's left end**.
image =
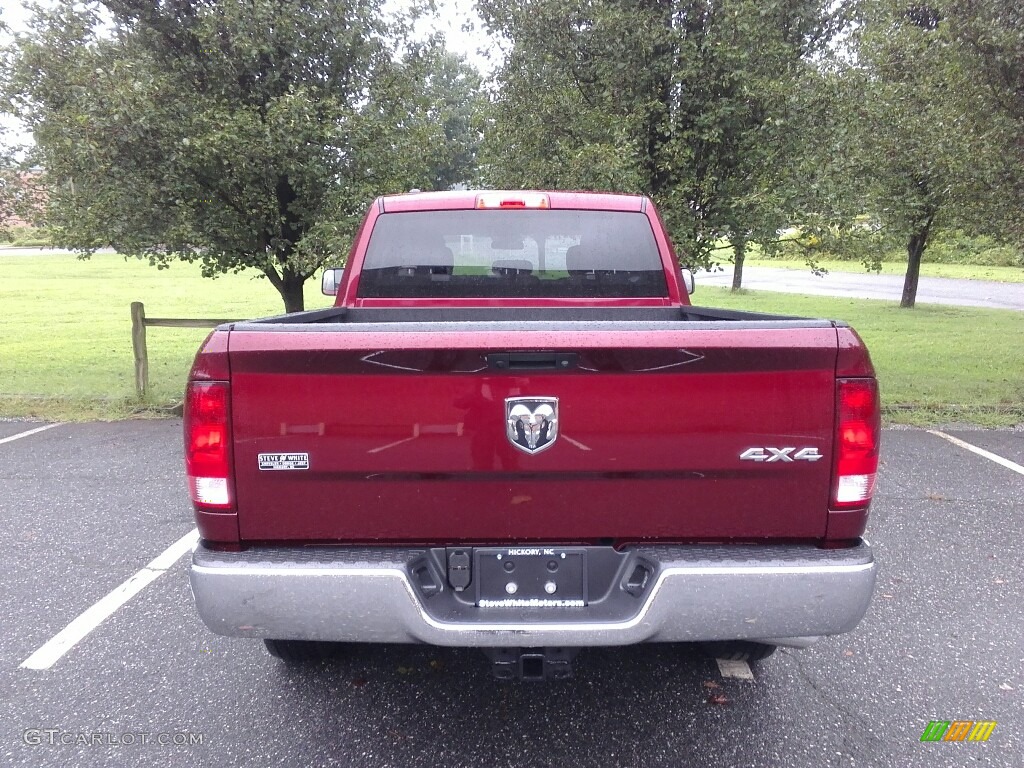
POLYGON ((75 647, 86 635, 113 615, 114 611, 131 600, 171 567, 178 558, 190 552, 199 542, 199 530, 193 528, 165 549, 148 565, 134 573, 114 591, 82 612, 75 621, 43 644, 39 650, 22 662, 27 670, 48 670, 75 647))

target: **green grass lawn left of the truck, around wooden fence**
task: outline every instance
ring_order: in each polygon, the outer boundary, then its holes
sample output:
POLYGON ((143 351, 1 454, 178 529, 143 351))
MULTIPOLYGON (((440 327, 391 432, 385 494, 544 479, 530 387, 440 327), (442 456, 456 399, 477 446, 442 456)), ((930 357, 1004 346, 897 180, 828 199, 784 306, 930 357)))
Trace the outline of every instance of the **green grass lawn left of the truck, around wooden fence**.
MULTIPOLYGON (((118 418, 137 410, 131 348, 132 301, 151 317, 247 318, 284 305, 264 279, 200 275, 199 265, 157 269, 99 254, 0 253, 0 416, 118 418)), ((306 307, 330 306, 318 281, 306 307)), ((147 328, 152 406, 180 399, 196 349, 208 330, 147 328)))

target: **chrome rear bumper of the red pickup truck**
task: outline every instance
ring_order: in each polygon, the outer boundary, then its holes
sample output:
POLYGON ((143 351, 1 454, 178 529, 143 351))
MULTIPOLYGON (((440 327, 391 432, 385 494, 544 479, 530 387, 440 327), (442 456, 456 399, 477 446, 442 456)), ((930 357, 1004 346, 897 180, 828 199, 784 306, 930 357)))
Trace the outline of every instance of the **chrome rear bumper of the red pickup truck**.
MULTIPOLYGON (((220 635, 476 647, 628 645, 759 640, 806 645, 849 632, 867 610, 876 564, 866 543, 681 545, 627 551, 651 566, 642 593, 615 575, 603 603, 583 608, 455 605, 437 577, 432 594, 417 568, 429 550, 253 548, 200 544, 189 573, 203 622, 220 635), (455 608, 458 608, 457 610, 455 608)), ((431 566, 433 567, 433 566, 431 566)), ((436 568, 434 568, 436 571, 436 568)))

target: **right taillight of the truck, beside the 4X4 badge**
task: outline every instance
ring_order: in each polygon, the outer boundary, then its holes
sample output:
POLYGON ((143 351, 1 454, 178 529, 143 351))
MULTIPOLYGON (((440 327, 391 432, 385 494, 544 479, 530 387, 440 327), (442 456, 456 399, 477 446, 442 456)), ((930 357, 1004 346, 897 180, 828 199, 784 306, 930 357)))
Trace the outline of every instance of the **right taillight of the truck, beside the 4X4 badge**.
POLYGON ((840 379, 836 390, 833 509, 866 508, 874 493, 882 420, 874 379, 840 379))

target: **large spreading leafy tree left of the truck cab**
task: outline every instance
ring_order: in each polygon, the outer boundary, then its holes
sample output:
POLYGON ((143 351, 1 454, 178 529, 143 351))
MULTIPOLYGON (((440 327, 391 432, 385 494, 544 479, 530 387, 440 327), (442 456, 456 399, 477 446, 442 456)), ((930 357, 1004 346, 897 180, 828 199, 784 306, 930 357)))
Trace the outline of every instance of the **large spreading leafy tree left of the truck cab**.
POLYGON ((418 87, 436 46, 406 32, 380 0, 38 11, 4 91, 35 134, 55 244, 200 261, 208 276, 256 268, 302 309, 367 201, 443 166, 418 87))

